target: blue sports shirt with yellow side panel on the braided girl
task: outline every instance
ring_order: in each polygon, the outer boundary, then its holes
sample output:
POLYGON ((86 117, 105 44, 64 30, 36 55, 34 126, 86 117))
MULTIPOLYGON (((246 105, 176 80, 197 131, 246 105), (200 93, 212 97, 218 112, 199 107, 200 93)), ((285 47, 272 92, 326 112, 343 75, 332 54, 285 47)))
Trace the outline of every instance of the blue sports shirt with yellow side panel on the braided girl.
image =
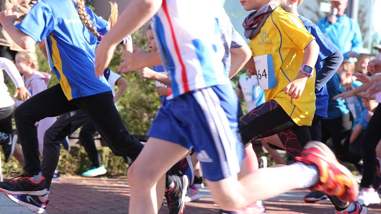
MULTIPOLYGON (((86 8, 92 25, 100 34, 108 22, 86 8)), ((98 38, 83 26, 72 1, 42 0, 16 28, 36 42, 46 39, 50 66, 68 100, 110 91, 106 79, 94 73, 94 51, 98 38)))

